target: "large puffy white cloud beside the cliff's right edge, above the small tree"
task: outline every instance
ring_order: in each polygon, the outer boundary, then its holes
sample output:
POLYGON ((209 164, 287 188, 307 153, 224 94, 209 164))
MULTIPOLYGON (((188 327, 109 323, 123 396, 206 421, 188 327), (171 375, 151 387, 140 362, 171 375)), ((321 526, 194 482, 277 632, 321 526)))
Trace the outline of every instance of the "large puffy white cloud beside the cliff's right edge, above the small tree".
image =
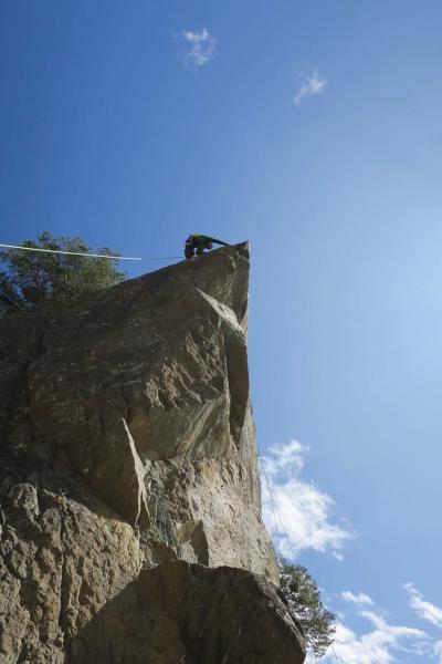
POLYGON ((354 536, 346 527, 332 522, 333 499, 314 484, 299 478, 306 450, 297 440, 292 440, 281 447, 271 447, 269 455, 262 457, 265 469, 263 517, 283 556, 293 558, 286 532, 295 550, 328 551, 341 560, 341 551, 354 536))

